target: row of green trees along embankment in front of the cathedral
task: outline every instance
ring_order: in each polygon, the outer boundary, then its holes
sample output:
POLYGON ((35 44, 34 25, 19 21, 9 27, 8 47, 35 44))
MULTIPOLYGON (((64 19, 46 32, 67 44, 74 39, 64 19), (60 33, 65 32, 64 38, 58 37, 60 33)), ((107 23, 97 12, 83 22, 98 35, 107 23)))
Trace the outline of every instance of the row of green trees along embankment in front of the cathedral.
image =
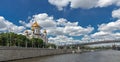
POLYGON ((46 44, 40 38, 27 38, 22 34, 0 33, 0 46, 18 46, 18 47, 35 47, 35 48, 48 48, 52 46, 56 48, 54 44, 46 44))

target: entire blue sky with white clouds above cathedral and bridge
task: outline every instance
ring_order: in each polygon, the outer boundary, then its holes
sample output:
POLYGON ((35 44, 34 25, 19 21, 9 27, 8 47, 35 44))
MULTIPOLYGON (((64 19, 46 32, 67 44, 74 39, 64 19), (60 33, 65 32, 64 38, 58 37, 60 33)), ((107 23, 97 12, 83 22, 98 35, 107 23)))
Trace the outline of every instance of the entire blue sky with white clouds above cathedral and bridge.
POLYGON ((23 34, 34 21, 57 45, 120 39, 120 0, 0 0, 0 32, 23 34))

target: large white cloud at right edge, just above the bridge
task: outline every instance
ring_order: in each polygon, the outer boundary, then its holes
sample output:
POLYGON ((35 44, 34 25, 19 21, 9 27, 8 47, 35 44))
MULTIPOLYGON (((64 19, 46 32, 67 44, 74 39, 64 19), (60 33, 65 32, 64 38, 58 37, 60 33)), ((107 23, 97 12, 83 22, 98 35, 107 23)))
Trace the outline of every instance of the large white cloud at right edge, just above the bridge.
POLYGON ((120 39, 120 20, 103 23, 98 26, 98 32, 91 34, 90 37, 94 40, 116 40, 120 39))

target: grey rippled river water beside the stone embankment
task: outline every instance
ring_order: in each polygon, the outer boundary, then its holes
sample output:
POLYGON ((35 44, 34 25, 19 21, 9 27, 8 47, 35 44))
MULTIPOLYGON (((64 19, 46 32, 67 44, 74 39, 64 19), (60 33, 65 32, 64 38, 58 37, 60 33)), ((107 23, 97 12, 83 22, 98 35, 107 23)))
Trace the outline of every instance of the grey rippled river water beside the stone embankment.
POLYGON ((106 50, 82 54, 63 54, 10 62, 120 62, 120 51, 106 50))

